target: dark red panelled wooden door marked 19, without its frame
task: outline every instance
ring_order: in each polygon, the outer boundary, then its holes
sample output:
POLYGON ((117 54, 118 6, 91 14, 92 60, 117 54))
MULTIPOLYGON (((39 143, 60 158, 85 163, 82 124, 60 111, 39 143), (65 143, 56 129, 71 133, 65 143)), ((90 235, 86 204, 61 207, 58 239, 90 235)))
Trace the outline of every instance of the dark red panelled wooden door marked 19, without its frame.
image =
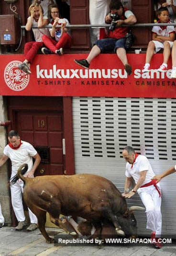
POLYGON ((35 176, 64 174, 63 113, 53 110, 19 110, 16 120, 22 140, 31 143, 41 157, 35 176))

